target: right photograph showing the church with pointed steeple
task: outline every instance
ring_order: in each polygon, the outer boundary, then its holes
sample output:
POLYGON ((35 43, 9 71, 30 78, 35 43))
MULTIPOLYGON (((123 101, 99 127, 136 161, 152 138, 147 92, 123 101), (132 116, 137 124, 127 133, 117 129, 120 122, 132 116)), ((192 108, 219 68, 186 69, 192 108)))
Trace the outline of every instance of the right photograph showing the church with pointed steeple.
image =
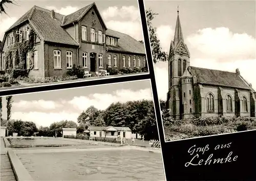
POLYGON ((256 129, 255 3, 145 1, 166 142, 256 129))

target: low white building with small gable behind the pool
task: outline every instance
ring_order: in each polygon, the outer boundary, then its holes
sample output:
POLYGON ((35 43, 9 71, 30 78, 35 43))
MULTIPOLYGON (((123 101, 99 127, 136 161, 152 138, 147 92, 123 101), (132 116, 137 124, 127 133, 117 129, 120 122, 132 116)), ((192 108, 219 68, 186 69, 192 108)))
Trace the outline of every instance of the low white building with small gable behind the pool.
POLYGON ((107 138, 123 137, 126 139, 132 138, 132 130, 129 127, 89 126, 89 130, 90 130, 90 137, 107 137, 107 138))

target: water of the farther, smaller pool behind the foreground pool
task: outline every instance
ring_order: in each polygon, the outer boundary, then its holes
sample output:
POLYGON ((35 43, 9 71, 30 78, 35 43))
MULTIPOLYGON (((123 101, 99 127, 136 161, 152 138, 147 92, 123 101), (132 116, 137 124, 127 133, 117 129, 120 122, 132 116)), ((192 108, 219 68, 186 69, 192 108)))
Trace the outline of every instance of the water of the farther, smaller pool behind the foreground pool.
POLYGON ((35 139, 8 139, 11 145, 61 145, 61 144, 71 144, 71 145, 81 145, 82 143, 77 143, 73 141, 66 141, 54 138, 35 138, 35 139))

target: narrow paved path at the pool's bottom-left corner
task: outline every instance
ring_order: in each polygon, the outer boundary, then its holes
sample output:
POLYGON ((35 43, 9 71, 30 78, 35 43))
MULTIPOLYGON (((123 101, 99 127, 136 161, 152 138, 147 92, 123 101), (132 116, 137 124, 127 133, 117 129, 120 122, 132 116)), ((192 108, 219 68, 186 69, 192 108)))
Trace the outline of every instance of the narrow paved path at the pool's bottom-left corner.
POLYGON ((1 181, 16 181, 14 173, 12 171, 11 163, 7 155, 4 139, 1 138, 1 168, 0 168, 0 180, 1 181))

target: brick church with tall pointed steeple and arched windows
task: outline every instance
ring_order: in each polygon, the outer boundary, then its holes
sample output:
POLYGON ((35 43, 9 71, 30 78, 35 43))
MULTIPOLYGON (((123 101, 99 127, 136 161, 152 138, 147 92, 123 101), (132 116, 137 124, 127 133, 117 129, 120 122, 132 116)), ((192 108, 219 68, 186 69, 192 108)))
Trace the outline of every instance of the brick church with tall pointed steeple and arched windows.
POLYGON ((174 119, 192 117, 255 117, 256 92, 236 69, 235 72, 190 66, 179 11, 174 40, 168 57, 166 107, 174 119))

